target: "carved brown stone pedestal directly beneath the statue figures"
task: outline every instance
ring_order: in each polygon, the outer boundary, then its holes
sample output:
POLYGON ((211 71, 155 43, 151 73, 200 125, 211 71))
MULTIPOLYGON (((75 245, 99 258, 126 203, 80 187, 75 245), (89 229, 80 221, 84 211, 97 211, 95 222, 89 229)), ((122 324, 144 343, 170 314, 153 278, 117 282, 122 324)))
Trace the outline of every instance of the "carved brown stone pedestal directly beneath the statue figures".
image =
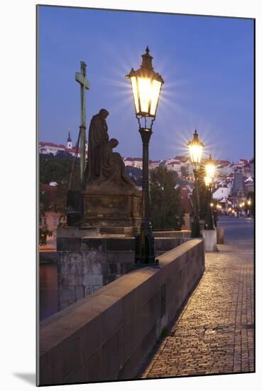
POLYGON ((82 227, 140 227, 141 200, 138 194, 82 193, 82 227))

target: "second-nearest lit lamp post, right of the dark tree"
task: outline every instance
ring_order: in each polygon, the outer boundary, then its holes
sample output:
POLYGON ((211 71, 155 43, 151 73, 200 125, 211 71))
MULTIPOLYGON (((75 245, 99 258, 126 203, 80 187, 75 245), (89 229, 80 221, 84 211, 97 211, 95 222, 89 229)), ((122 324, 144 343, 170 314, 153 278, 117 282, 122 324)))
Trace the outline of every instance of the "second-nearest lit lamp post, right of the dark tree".
POLYGON ((199 194, 198 194, 198 173, 204 144, 198 139, 197 130, 193 134, 192 141, 187 143, 190 149, 190 159, 193 166, 195 176, 195 202, 194 202, 194 220, 191 227, 191 237, 202 237, 200 232, 200 217, 199 217, 199 194))

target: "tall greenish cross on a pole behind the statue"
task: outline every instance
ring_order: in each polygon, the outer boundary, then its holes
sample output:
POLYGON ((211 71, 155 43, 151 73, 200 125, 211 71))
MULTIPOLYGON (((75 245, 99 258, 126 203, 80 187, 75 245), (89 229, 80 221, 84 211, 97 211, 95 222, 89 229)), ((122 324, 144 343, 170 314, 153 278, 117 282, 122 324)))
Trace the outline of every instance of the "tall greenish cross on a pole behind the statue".
POLYGON ((81 73, 75 73, 75 81, 80 83, 80 99, 81 99, 81 122, 80 122, 80 181, 81 186, 84 183, 85 170, 85 144, 86 144, 86 116, 85 116, 85 90, 89 90, 89 81, 85 78, 87 65, 84 61, 80 61, 81 73))

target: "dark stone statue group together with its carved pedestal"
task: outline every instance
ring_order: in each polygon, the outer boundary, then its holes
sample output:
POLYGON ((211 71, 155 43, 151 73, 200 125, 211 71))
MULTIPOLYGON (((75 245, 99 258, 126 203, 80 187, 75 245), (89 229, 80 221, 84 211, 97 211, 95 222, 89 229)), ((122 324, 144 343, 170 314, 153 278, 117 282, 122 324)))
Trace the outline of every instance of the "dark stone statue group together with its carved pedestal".
POLYGON ((101 109, 90 122, 80 226, 103 227, 109 233, 122 235, 126 227, 129 232, 138 232, 141 195, 126 175, 120 154, 113 151, 119 141, 109 139, 108 115, 106 109, 101 109))

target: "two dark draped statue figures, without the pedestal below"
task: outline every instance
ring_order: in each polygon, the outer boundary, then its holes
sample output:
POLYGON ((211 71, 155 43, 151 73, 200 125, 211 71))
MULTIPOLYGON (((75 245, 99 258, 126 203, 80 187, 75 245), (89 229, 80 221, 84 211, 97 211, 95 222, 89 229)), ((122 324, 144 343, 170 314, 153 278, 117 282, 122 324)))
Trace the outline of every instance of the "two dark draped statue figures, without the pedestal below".
POLYGON ((109 140, 106 119, 109 112, 101 109, 92 117, 89 126, 86 182, 89 185, 114 184, 130 186, 133 182, 126 175, 124 162, 120 154, 113 152, 119 144, 116 139, 109 140))

